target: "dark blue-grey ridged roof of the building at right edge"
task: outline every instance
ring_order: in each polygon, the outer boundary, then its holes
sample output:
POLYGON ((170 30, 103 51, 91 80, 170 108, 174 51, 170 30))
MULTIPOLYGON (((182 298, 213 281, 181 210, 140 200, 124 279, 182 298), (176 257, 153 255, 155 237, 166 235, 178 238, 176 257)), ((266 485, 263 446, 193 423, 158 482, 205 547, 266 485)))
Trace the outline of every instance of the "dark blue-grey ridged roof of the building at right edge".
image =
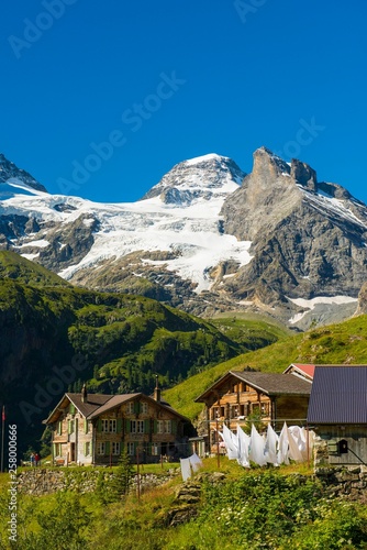
POLYGON ((367 365, 316 365, 309 424, 367 424, 367 365))

